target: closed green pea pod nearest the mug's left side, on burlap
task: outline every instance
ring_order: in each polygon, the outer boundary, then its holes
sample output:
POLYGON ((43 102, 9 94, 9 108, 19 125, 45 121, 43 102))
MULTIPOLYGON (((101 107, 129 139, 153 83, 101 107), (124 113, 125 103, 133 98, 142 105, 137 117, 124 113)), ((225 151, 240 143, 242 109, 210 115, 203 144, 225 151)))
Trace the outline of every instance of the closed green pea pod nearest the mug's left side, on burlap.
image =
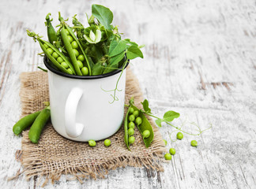
POLYGON ((28 132, 28 138, 31 140, 32 143, 38 143, 44 125, 47 123, 47 120, 49 120, 50 116, 51 109, 50 106, 47 106, 40 112, 38 117, 36 117, 36 120, 34 121, 28 132))

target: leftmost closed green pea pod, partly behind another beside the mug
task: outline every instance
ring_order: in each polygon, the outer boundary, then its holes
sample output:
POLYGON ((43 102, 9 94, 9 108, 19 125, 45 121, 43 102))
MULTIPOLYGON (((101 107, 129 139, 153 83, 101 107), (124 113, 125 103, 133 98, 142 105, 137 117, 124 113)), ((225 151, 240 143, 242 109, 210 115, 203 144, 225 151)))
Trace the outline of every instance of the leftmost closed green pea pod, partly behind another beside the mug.
POLYGON ((16 124, 13 125, 13 132, 15 135, 20 135, 22 131, 31 126, 36 120, 36 117, 40 114, 41 111, 36 113, 31 113, 28 116, 22 117, 21 120, 18 120, 16 124))

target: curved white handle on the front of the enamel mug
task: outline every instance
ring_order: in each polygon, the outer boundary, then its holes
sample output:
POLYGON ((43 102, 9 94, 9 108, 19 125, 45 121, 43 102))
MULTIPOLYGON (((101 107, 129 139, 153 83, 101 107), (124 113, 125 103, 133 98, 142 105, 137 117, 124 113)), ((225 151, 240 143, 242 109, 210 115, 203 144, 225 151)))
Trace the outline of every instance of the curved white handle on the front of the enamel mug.
POLYGON ((66 99, 66 106, 65 106, 66 134, 73 138, 76 138, 77 136, 81 135, 81 132, 83 132, 83 129, 85 128, 84 124, 76 123, 77 105, 82 95, 83 95, 83 91, 78 87, 74 87, 70 91, 70 95, 66 99))

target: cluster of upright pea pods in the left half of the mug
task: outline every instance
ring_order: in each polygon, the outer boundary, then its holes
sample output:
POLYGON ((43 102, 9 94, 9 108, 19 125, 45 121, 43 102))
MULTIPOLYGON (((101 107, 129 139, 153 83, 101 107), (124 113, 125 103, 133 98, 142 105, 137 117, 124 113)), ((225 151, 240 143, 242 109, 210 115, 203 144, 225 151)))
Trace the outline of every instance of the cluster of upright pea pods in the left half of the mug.
POLYGON ((40 35, 36 35, 33 31, 27 30, 28 36, 40 43, 43 54, 47 56, 54 69, 77 76, 91 75, 88 57, 72 28, 66 24, 59 13, 60 28, 56 32, 51 24, 50 15, 51 13, 48 13, 46 17, 48 42, 41 39, 40 35))

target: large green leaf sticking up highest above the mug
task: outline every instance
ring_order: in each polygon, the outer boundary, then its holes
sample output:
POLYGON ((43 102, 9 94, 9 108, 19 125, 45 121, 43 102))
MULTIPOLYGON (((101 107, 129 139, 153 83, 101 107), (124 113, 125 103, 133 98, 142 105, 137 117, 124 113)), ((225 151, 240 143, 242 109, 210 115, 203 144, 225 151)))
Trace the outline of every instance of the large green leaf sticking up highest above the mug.
POLYGON ((113 20, 113 13, 110 9, 105 6, 92 5, 92 15, 99 20, 100 24, 103 24, 104 27, 108 30, 111 30, 111 23, 113 20))

